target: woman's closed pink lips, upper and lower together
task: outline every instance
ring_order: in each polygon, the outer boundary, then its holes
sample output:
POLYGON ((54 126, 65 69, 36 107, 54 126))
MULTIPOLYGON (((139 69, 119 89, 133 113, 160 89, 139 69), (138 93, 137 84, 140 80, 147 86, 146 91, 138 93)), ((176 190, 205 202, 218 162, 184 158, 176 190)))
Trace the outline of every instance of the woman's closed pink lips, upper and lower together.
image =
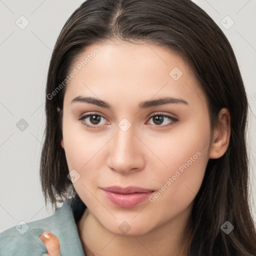
POLYGON ((152 189, 137 186, 109 186, 101 187, 101 189, 111 203, 123 208, 136 206, 154 192, 152 189))

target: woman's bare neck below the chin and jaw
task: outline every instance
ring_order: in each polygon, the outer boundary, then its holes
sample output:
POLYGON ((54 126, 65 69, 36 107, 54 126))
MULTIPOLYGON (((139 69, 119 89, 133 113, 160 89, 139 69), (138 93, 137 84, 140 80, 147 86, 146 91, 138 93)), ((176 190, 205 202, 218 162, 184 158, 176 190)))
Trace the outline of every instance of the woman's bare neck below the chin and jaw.
POLYGON ((105 229, 85 209, 77 223, 78 233, 86 256, 117 256, 117 255, 187 255, 190 229, 189 205, 174 219, 158 226, 143 235, 118 235, 105 229))

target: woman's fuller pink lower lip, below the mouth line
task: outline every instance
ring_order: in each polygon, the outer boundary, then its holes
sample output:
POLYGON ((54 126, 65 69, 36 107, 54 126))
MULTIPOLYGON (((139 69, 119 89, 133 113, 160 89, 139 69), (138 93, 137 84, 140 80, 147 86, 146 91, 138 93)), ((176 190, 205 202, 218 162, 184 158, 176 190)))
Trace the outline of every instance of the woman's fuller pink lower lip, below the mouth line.
POLYGON ((123 208, 134 207, 140 202, 144 201, 146 198, 150 196, 152 192, 144 192, 144 193, 132 193, 132 194, 118 194, 106 191, 104 189, 104 195, 115 205, 123 208))

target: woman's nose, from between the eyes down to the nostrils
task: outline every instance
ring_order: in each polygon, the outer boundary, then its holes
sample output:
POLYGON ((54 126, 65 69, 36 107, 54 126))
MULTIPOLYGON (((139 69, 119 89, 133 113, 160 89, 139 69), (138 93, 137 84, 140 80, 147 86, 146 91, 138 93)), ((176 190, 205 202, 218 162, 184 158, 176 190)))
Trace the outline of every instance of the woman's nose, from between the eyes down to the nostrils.
POLYGON ((117 127, 116 134, 111 139, 107 166, 121 174, 143 169, 143 146, 132 126, 126 131, 117 127))

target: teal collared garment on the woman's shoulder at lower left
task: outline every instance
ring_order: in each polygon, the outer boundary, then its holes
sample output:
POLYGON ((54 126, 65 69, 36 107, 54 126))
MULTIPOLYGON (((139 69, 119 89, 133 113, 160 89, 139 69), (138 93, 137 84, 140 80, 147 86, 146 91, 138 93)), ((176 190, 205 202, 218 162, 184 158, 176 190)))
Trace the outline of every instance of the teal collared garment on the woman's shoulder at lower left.
POLYGON ((66 199, 51 216, 4 230, 0 233, 0 256, 43 255, 47 250, 39 236, 44 231, 58 237, 61 256, 85 256, 76 227, 85 208, 82 201, 66 199))

